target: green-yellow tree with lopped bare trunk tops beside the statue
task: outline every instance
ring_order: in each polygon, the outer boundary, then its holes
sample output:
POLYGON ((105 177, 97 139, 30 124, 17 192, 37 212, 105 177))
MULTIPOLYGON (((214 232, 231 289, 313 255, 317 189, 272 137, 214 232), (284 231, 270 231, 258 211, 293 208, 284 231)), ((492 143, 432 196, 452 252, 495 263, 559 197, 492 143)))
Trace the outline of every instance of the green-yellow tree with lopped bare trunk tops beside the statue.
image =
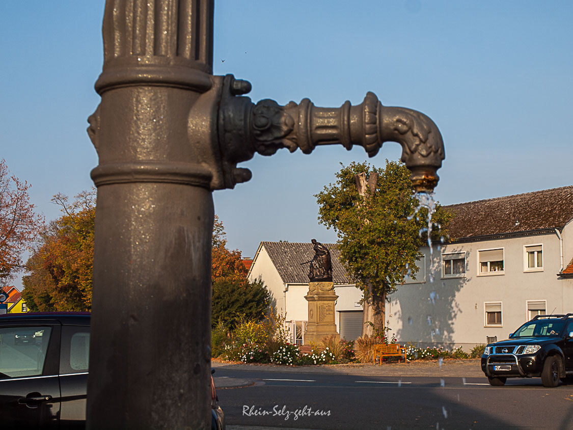
MULTIPOLYGON (((383 333, 388 295, 406 275, 415 279, 419 248, 427 239, 427 210, 411 216, 418 201, 413 197, 410 171, 401 162, 386 160, 384 169, 352 162, 342 165, 336 183, 315 197, 320 223, 337 233, 340 259, 364 293, 363 334, 383 333), (372 183, 365 196, 356 186, 355 176, 361 173, 372 183), (373 173, 378 174, 377 180, 373 173)), ((435 239, 446 234, 451 217, 439 204, 436 208, 432 220, 441 228, 433 229, 435 239)))

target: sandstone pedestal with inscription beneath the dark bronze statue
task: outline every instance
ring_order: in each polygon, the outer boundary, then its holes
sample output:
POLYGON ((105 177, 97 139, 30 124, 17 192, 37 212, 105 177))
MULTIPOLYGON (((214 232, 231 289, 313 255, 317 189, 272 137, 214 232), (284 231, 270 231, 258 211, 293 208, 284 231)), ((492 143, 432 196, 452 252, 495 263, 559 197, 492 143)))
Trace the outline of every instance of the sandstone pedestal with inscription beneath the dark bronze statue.
POLYGON ((334 303, 338 296, 334 292, 333 282, 309 282, 308 293, 304 296, 308 302, 307 333, 304 334, 304 345, 309 342, 320 342, 323 338, 335 335, 336 331, 334 303))

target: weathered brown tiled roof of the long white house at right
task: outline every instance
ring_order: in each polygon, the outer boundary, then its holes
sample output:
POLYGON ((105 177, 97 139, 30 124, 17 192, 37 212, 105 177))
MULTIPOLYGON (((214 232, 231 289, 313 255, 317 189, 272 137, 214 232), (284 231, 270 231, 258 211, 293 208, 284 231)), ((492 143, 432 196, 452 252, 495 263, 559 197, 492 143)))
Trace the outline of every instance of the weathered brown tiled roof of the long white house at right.
POLYGON ((573 186, 444 206, 454 213, 450 237, 562 229, 573 219, 573 186))

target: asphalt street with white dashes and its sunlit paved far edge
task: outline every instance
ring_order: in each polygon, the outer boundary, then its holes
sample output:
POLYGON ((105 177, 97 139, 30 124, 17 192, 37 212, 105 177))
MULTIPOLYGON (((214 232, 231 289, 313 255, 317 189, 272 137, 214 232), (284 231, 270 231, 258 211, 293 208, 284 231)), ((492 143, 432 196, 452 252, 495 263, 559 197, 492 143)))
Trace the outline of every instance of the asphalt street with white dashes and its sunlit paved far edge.
POLYGON ((477 361, 439 364, 279 368, 215 363, 214 376, 228 430, 573 429, 573 385, 549 389, 533 378, 492 387, 477 361))

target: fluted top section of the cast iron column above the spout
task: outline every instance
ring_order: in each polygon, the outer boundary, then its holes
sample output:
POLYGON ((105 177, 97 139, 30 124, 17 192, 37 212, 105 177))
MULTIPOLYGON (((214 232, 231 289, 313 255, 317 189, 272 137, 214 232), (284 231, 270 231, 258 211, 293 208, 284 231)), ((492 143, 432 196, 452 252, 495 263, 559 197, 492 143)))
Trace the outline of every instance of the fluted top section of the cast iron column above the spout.
POLYGON ((100 94, 141 83, 211 87, 213 0, 107 0, 103 40, 100 94))

